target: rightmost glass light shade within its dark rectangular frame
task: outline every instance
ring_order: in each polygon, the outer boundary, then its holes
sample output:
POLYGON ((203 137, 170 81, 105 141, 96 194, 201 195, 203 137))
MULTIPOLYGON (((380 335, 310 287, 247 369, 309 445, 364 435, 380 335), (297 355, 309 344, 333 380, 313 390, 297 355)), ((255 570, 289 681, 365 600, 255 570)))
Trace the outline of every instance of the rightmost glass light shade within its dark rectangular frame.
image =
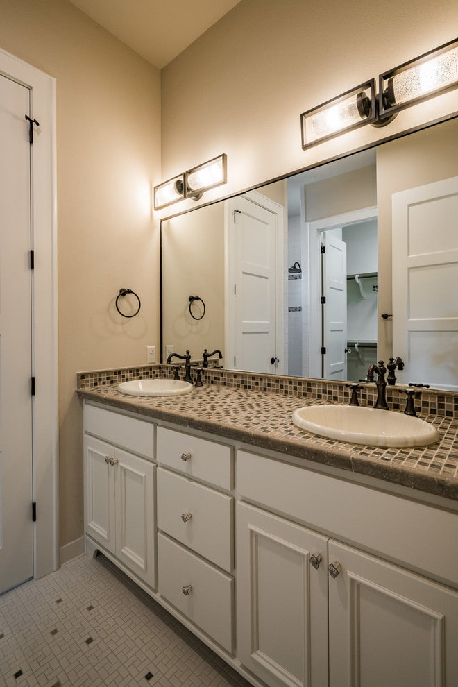
POLYGON ((458 85, 458 41, 380 74, 381 112, 409 108, 458 85))

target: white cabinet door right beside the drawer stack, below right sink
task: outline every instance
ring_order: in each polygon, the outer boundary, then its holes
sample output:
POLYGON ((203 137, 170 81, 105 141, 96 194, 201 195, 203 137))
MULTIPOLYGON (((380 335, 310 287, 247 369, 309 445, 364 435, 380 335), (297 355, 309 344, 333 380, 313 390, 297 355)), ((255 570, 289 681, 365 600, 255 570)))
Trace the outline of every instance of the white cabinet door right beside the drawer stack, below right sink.
POLYGON ((247 504, 236 515, 238 658, 271 686, 327 687, 327 538, 247 504))

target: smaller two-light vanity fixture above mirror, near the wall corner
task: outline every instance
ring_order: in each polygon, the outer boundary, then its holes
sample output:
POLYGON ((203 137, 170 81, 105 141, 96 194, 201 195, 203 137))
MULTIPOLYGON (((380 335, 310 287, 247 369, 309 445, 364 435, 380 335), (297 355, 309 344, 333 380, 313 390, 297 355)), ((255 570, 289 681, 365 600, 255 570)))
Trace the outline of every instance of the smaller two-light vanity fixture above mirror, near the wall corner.
POLYGON ((198 164, 173 179, 164 181, 154 187, 154 209, 181 201, 183 198, 194 198, 198 201, 205 191, 213 189, 227 182, 227 155, 223 153, 217 158, 198 164))

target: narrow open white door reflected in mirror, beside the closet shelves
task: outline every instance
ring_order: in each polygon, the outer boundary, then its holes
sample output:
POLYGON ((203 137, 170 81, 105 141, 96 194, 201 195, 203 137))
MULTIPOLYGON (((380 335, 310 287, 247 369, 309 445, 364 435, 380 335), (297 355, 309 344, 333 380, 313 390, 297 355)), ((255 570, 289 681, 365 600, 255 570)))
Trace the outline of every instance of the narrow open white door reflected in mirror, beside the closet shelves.
POLYGON ((347 247, 323 232, 323 378, 347 378, 347 247))

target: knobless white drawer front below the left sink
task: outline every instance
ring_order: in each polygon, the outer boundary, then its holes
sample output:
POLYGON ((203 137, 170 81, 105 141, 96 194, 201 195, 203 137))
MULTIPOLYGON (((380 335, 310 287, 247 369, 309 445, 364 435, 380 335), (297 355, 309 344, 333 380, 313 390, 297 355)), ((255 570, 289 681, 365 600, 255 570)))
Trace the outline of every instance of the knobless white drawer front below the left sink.
POLYGON ((146 458, 154 458, 153 423, 85 403, 84 430, 146 458))

